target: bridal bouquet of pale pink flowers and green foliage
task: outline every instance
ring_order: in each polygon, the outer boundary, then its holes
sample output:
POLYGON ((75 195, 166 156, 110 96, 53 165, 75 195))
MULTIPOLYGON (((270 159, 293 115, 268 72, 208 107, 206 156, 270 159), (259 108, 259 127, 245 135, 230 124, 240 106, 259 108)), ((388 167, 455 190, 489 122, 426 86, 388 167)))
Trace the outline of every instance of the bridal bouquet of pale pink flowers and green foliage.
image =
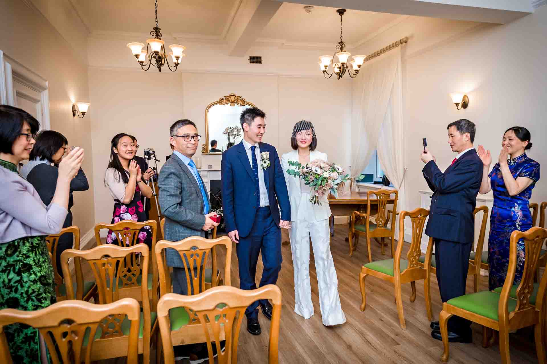
POLYGON ((315 205, 320 205, 323 196, 329 192, 337 198, 336 187, 340 183, 345 183, 350 176, 340 165, 320 159, 313 160, 306 165, 301 165, 298 161, 289 161, 289 166, 294 167, 294 169, 287 169, 289 175, 294 178, 299 176, 304 179, 306 185, 312 187, 315 193, 311 196, 310 202, 315 205))

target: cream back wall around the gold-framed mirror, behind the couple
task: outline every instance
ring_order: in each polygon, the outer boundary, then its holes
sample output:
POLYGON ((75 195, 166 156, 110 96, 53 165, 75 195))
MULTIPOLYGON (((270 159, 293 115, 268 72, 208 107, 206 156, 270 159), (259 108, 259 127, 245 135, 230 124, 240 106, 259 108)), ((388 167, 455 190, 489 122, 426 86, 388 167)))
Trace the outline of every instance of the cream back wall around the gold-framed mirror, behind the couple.
MULTIPOLYGON (((351 87, 348 81, 322 77, 282 77, 269 74, 143 72, 140 68, 89 68, 91 103, 95 122, 91 138, 94 148, 95 220, 110 221, 113 201, 104 187, 110 139, 119 132, 137 137, 139 155, 154 148, 161 168, 169 148, 169 127, 178 119, 190 119, 205 143, 205 109, 224 95, 235 93, 266 113, 264 142, 279 154, 290 150, 296 121, 313 122, 318 150, 329 159, 349 163, 351 87)), ((219 155, 201 156, 202 166, 220 168, 219 155)))

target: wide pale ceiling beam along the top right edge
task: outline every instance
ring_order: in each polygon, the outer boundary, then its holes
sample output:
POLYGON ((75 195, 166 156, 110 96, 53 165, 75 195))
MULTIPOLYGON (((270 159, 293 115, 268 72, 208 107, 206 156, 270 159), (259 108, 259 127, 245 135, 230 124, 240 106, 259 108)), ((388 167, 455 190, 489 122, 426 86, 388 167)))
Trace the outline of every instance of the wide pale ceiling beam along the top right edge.
POLYGON ((534 11, 531 0, 291 0, 291 2, 496 24, 506 24, 534 11))

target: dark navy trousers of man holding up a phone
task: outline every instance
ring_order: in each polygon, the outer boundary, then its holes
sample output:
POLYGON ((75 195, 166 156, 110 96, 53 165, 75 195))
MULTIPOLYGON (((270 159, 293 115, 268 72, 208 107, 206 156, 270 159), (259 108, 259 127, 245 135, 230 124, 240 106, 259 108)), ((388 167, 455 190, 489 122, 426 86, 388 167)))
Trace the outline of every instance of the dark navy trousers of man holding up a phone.
MULTIPOLYGON (((458 243, 441 239, 434 239, 434 242, 437 282, 441 300, 446 302, 454 297, 465 295, 469 254, 471 254, 473 243, 458 243)), ((466 334, 470 325, 471 321, 459 316, 452 316, 448 321, 448 330, 466 334)))

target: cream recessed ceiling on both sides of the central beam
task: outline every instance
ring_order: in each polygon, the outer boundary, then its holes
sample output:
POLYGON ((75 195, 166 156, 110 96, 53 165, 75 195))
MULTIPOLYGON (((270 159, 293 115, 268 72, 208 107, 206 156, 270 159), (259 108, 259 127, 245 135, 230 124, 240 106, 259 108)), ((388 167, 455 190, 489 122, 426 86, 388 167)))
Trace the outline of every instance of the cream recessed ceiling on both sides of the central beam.
MULTIPOLYGON (((71 0, 90 32, 148 33, 155 26, 153 0, 71 0)), ((164 36, 223 40, 242 0, 158 0, 158 21, 164 36)), ((358 43, 400 15, 348 10, 344 41, 358 43)), ((333 44, 340 40, 336 8, 283 3, 257 38, 265 42, 333 44)))

